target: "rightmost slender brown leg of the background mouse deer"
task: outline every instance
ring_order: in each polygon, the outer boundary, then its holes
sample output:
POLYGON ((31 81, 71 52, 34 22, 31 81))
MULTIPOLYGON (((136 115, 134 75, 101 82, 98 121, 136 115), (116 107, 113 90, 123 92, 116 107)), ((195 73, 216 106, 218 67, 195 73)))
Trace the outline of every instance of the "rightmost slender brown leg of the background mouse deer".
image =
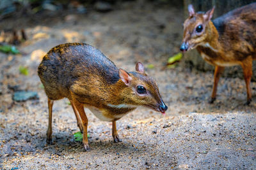
POLYGON ((247 91, 247 102, 245 104, 250 104, 252 101, 252 91, 250 87, 251 78, 252 78, 252 56, 247 57, 247 59, 243 60, 241 63, 244 71, 244 81, 246 83, 246 91, 247 91))

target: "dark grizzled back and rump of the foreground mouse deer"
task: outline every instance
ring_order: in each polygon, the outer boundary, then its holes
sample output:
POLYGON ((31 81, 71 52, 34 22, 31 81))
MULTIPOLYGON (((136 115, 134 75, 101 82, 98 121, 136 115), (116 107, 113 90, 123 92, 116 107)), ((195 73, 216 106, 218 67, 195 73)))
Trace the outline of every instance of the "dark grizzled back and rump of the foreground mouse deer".
POLYGON ((118 81, 118 68, 102 52, 83 43, 67 43, 52 48, 45 55, 38 75, 47 96, 68 97, 70 87, 113 84, 118 81))

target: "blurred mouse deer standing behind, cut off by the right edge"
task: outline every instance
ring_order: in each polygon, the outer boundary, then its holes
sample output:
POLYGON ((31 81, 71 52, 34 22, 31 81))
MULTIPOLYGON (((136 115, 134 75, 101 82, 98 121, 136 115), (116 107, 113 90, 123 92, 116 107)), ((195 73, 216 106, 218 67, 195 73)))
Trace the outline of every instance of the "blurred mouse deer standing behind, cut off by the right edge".
POLYGON ((214 8, 206 13, 195 13, 189 4, 188 11, 180 50, 186 52, 196 48, 204 60, 215 66, 209 103, 216 99, 218 81, 224 68, 241 65, 247 90, 246 104, 250 104, 252 60, 256 59, 256 3, 232 10, 213 21, 214 8))

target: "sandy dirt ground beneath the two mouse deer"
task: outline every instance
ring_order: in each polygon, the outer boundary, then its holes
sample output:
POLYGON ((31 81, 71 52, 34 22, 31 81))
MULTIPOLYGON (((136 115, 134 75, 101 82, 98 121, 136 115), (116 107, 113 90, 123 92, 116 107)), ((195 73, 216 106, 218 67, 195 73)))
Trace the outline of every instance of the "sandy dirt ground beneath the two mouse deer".
POLYGON ((22 55, 0 53, 0 169, 256 169, 256 83, 250 106, 244 106, 239 78, 221 78, 217 100, 208 104, 212 73, 164 68, 179 52, 182 11, 171 4, 128 2, 109 13, 2 21, 1 29, 25 27, 28 40, 18 46, 22 55), (159 85, 166 115, 132 111, 117 122, 122 143, 113 143, 111 123, 85 109, 91 150, 84 152, 73 138, 76 118, 63 99, 54 103, 54 145, 47 145, 47 97, 37 67, 45 52, 67 42, 96 46, 127 71, 134 71, 137 61, 154 64, 147 73, 159 85), (19 74, 19 66, 28 67, 29 75, 19 74), (15 88, 40 98, 14 102, 15 88))

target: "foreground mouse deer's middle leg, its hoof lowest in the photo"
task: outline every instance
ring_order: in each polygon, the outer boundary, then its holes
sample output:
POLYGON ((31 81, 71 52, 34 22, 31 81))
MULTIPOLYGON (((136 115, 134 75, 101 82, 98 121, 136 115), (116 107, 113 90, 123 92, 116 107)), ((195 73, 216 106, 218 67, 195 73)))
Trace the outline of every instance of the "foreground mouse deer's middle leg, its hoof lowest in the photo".
POLYGON ((87 138, 87 126, 88 126, 88 118, 86 117, 86 114, 84 112, 84 105, 83 103, 79 103, 76 99, 73 99, 74 101, 74 106, 76 107, 81 120, 82 120, 82 125, 83 125, 83 145, 84 145, 84 150, 88 151, 89 150, 89 145, 88 145, 88 138, 87 138))

